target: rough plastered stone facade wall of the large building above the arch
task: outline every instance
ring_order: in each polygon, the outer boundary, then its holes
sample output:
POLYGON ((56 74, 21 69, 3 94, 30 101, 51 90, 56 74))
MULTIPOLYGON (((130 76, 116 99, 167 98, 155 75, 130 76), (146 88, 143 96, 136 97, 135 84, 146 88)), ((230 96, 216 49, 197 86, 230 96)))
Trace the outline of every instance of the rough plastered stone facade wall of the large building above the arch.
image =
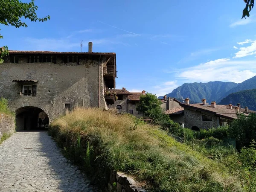
POLYGON ((0 93, 9 99, 12 111, 24 106, 34 106, 44 110, 49 119, 65 113, 65 103, 71 108, 107 108, 104 98, 104 78, 99 60, 81 60, 64 64, 57 58, 53 63, 27 63, 27 57, 19 57, 19 63, 0 65, 0 93), (100 72, 100 74, 99 74, 100 72), (25 83, 12 82, 15 79, 38 80, 36 96, 20 96, 25 83), (100 79, 100 83, 99 83, 100 79), (99 98, 100 96, 100 98, 99 98))

